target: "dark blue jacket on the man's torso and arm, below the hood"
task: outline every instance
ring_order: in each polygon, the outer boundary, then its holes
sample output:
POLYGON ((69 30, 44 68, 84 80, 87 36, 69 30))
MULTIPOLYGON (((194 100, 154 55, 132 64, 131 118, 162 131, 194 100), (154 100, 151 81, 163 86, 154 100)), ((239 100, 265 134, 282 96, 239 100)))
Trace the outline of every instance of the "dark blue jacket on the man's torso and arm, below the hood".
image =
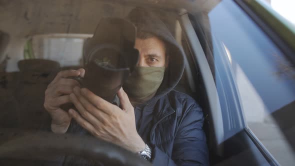
POLYGON ((154 165, 208 165, 203 112, 193 98, 172 90, 148 108, 156 118, 147 143, 154 165))

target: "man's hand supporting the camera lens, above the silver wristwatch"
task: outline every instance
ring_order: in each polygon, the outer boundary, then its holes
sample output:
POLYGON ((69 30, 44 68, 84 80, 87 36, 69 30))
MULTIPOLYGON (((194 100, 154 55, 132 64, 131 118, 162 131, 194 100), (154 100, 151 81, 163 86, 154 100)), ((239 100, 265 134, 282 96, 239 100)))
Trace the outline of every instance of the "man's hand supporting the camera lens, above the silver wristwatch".
POLYGON ((122 109, 86 88, 75 87, 69 96, 80 114, 73 109, 69 114, 95 137, 133 152, 142 151, 145 143, 136 131, 134 108, 122 88, 117 95, 122 109))

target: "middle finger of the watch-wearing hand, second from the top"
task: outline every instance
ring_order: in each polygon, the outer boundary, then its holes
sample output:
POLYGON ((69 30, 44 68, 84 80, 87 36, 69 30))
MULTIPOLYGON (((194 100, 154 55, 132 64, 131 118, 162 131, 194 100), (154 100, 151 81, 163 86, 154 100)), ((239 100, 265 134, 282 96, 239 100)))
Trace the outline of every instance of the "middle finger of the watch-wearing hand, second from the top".
POLYGON ((98 108, 96 108, 92 103, 90 103, 84 96, 80 94, 79 88, 74 88, 73 92, 75 97, 79 100, 82 106, 93 116, 95 116, 99 121, 103 123, 104 119, 107 118, 107 114, 98 108))

